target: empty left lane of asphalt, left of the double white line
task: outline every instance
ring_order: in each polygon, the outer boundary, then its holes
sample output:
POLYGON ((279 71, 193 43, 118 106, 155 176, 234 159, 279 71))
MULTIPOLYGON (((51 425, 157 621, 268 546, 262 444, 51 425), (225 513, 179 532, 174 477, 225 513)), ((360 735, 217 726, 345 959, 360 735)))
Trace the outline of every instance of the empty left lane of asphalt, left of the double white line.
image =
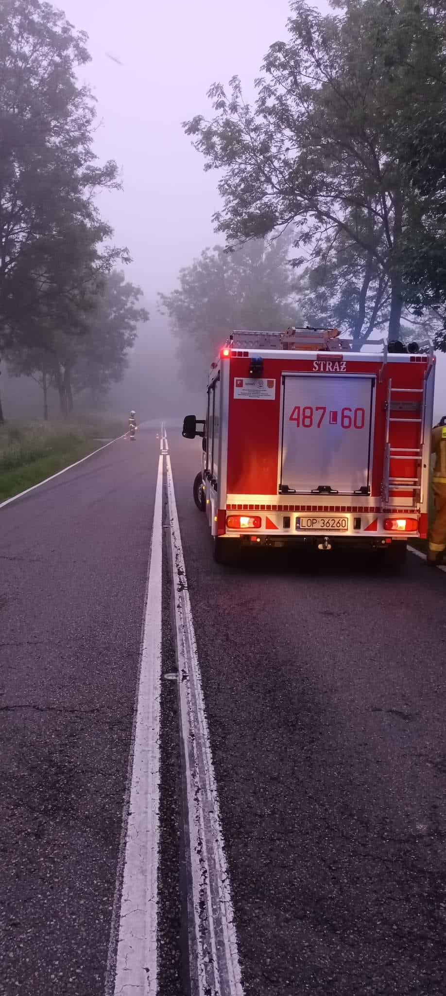
POLYGON ((159 443, 0 509, 0 992, 104 992, 159 443))

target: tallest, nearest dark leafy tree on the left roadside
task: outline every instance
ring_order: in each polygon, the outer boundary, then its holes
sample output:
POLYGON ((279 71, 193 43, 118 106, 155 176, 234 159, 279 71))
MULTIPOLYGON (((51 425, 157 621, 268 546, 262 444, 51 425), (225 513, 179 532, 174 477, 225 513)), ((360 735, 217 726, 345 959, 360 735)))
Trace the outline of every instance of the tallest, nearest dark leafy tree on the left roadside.
POLYGON ((83 309, 118 253, 95 192, 119 185, 93 152, 95 102, 77 71, 87 36, 41 0, 0 8, 0 354, 38 348, 42 312, 83 309), (74 277, 75 275, 75 277, 74 277))

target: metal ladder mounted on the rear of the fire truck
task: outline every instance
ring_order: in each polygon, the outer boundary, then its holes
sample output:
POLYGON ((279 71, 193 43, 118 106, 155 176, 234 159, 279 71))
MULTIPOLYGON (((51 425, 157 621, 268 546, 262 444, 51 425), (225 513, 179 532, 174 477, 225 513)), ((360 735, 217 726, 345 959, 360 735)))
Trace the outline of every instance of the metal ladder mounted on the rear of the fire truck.
MULTIPOLYGON (((385 363, 385 361, 384 361, 385 363)), ((424 372, 422 387, 392 387, 391 377, 387 381, 387 397, 385 402, 385 447, 384 447, 384 472, 382 478, 381 495, 384 502, 389 501, 390 492, 411 491, 412 499, 404 497, 404 504, 416 508, 423 503, 422 490, 422 464, 424 460, 424 449, 426 445, 426 391, 429 374, 433 367, 433 351, 431 352, 427 367, 424 372), (413 395, 413 400, 401 401, 396 395, 413 395), (416 411, 419 418, 401 418, 392 414, 397 411, 416 411), (419 424, 420 435, 418 446, 402 447, 391 446, 389 441, 390 425, 392 422, 408 422, 410 425, 419 424), (399 477, 397 474, 390 475, 390 462, 394 460, 410 460, 418 466, 416 477, 399 477)))

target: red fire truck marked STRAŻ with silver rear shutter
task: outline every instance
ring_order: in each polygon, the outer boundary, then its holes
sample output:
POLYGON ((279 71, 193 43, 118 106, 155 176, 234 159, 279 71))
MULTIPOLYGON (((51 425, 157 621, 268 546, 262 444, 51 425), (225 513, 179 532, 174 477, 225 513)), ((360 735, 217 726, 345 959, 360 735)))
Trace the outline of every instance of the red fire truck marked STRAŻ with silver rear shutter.
POLYGON ((398 565, 426 536, 434 357, 372 345, 351 352, 330 329, 229 337, 206 417, 182 433, 203 440, 194 498, 218 562, 293 543, 373 547, 398 565))

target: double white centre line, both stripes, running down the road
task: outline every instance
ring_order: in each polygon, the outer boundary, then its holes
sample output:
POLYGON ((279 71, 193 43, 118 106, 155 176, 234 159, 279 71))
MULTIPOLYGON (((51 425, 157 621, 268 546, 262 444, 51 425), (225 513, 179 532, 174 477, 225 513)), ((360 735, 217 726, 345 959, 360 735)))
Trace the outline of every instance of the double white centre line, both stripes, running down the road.
POLYGON ((180 741, 186 789, 191 996, 243 996, 234 911, 204 707, 168 442, 162 425, 135 722, 106 991, 155 996, 159 858, 162 488, 168 497, 180 741), (117 944, 116 944, 117 934, 117 944))

